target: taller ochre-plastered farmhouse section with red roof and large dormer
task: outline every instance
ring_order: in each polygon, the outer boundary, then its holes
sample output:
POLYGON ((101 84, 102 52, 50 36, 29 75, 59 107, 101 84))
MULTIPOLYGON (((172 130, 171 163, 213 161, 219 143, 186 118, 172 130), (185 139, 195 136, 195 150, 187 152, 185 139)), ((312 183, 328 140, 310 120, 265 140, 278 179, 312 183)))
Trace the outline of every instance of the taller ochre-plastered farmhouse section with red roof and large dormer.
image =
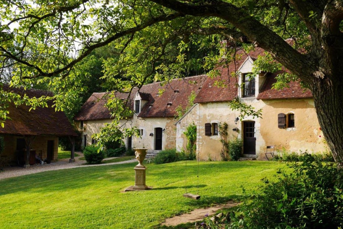
POLYGON ((304 91, 299 82, 290 82, 283 90, 272 89, 275 77, 282 71, 261 72, 249 80, 247 75, 252 72, 256 58, 264 55, 263 49, 256 48, 249 54, 239 50, 237 55, 240 55, 238 62, 218 67, 220 77, 206 78, 194 100, 196 105, 176 122, 177 150, 185 148, 186 138, 182 133, 191 122, 197 125, 197 153, 201 160, 221 159, 218 124, 224 122, 228 124, 228 138, 243 139, 244 157, 265 160, 267 146, 296 152, 326 150, 312 93, 304 91), (226 87, 214 86, 218 79, 226 87), (238 111, 232 111, 228 101, 236 98, 255 110, 262 108, 262 117, 241 117, 238 111))

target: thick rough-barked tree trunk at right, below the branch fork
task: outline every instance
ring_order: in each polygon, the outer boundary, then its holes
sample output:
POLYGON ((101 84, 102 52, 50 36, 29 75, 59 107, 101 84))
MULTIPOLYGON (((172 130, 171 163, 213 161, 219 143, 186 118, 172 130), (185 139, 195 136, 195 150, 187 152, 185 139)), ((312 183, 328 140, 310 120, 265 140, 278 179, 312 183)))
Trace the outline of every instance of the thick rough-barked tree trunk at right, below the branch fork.
POLYGON ((312 84, 319 124, 332 151, 333 158, 343 168, 343 82, 318 79, 312 84))

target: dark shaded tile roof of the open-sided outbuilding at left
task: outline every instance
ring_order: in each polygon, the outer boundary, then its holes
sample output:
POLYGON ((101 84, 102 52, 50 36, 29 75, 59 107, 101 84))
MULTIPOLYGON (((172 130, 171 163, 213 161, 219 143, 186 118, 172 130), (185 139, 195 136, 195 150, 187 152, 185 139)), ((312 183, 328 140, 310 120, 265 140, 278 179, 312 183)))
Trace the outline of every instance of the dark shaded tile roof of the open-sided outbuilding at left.
MULTIPOLYGON (((4 85, 3 89, 18 94, 26 93, 30 98, 52 96, 51 92, 43 90, 9 89, 7 85, 4 85)), ((52 101, 47 103, 47 108, 37 107, 36 110, 31 111, 29 106, 15 107, 14 104, 9 104, 9 117, 12 120, 6 120, 5 127, 0 127, 0 134, 77 136, 66 115, 63 112, 55 112, 55 108, 51 107, 52 101)))

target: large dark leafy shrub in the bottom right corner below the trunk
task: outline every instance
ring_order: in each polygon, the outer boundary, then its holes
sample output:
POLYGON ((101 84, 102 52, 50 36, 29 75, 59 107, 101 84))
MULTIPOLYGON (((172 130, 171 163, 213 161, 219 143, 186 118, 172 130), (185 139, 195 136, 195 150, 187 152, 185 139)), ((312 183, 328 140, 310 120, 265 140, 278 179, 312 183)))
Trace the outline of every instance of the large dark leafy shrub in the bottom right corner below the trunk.
POLYGON ((232 214, 232 228, 340 228, 343 172, 305 152, 232 214))

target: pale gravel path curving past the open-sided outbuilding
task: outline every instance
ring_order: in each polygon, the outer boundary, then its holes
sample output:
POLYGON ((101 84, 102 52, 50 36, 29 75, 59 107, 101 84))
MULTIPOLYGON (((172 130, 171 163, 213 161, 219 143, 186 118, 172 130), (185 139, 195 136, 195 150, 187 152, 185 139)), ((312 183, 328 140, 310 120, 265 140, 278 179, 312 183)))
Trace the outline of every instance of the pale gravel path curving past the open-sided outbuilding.
MULTIPOLYGON (((87 164, 85 160, 80 160, 79 158, 83 157, 82 152, 77 152, 79 154, 78 157, 75 157, 74 163, 69 163, 69 158, 64 158, 56 162, 51 162, 50 164, 37 164, 31 165, 29 168, 24 169, 23 167, 5 167, 4 171, 0 172, 0 180, 5 178, 11 178, 16 176, 23 176, 27 174, 33 173, 40 173, 45 171, 52 171, 52 170, 60 170, 60 169, 72 169, 72 168, 81 168, 81 167, 90 167, 90 166, 104 166, 104 165, 113 165, 113 164, 125 164, 131 162, 137 162, 136 159, 128 160, 128 161, 120 161, 120 162, 113 162, 113 163, 105 163, 105 164, 87 164)), ((116 158, 116 157, 115 157, 116 158)), ((107 160, 114 159, 114 158, 106 158, 107 160)))

